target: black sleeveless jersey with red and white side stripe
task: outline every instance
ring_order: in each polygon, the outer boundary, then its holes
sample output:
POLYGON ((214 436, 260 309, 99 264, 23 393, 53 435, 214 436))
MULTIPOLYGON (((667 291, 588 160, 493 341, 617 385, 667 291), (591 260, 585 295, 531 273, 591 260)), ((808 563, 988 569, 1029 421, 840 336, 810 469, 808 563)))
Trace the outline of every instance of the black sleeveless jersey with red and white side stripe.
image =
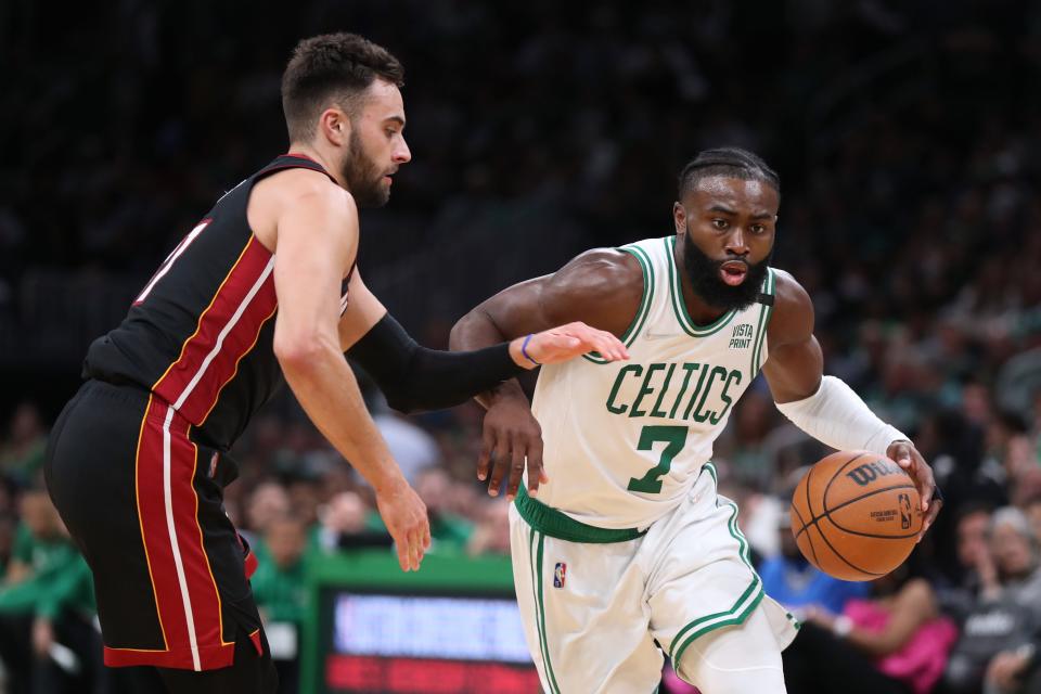
POLYGON ((231 446, 282 382, 273 349, 274 256, 249 229, 246 207, 258 180, 287 168, 329 176, 288 154, 226 193, 174 248, 123 323, 90 346, 85 377, 150 390, 205 442, 231 446))

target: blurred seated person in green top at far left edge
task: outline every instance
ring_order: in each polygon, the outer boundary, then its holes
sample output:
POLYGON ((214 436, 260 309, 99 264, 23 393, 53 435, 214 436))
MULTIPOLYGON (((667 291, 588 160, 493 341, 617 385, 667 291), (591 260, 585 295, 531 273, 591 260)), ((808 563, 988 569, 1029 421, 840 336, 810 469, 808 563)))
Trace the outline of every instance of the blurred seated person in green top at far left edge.
POLYGON ((61 694, 101 677, 90 568, 43 491, 24 493, 0 584, 0 659, 9 692, 61 694))

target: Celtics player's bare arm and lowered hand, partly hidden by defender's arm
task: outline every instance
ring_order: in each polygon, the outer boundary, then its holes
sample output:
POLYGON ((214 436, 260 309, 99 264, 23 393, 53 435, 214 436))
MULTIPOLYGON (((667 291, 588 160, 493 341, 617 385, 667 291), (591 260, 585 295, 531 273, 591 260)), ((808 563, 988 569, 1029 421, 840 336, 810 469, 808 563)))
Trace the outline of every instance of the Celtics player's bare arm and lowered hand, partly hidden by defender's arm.
MULTIPOLYGON (((633 256, 608 248, 589 250, 555 273, 515 284, 474 308, 452 327, 449 347, 479 349, 573 321, 621 336, 642 295, 643 272, 633 256)), ((476 399, 488 410, 477 477, 488 476, 493 458, 488 492, 497 496, 507 477, 506 496, 512 499, 527 461, 528 492, 535 496, 539 483, 547 480, 542 433, 520 385, 507 381, 476 399)))

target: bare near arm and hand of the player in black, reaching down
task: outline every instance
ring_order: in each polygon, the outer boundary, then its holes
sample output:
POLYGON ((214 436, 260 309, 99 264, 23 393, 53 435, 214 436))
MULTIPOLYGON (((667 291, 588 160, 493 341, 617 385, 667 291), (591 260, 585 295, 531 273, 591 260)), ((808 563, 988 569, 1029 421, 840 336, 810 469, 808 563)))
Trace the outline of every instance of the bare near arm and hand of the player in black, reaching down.
POLYGON ((358 248, 354 198, 327 183, 304 184, 277 213, 274 354, 318 429, 376 492, 404 570, 430 543, 426 506, 390 455, 339 348, 339 287, 358 248))

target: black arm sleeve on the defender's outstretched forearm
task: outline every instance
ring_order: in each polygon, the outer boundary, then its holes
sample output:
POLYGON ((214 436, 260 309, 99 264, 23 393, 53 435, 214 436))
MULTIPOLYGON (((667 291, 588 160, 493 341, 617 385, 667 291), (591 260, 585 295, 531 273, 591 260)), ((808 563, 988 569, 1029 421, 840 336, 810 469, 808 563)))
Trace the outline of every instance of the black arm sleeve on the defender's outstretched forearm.
POLYGON ((441 351, 416 344, 389 313, 347 351, 399 412, 438 410, 465 402, 525 370, 509 343, 474 351, 441 351))

